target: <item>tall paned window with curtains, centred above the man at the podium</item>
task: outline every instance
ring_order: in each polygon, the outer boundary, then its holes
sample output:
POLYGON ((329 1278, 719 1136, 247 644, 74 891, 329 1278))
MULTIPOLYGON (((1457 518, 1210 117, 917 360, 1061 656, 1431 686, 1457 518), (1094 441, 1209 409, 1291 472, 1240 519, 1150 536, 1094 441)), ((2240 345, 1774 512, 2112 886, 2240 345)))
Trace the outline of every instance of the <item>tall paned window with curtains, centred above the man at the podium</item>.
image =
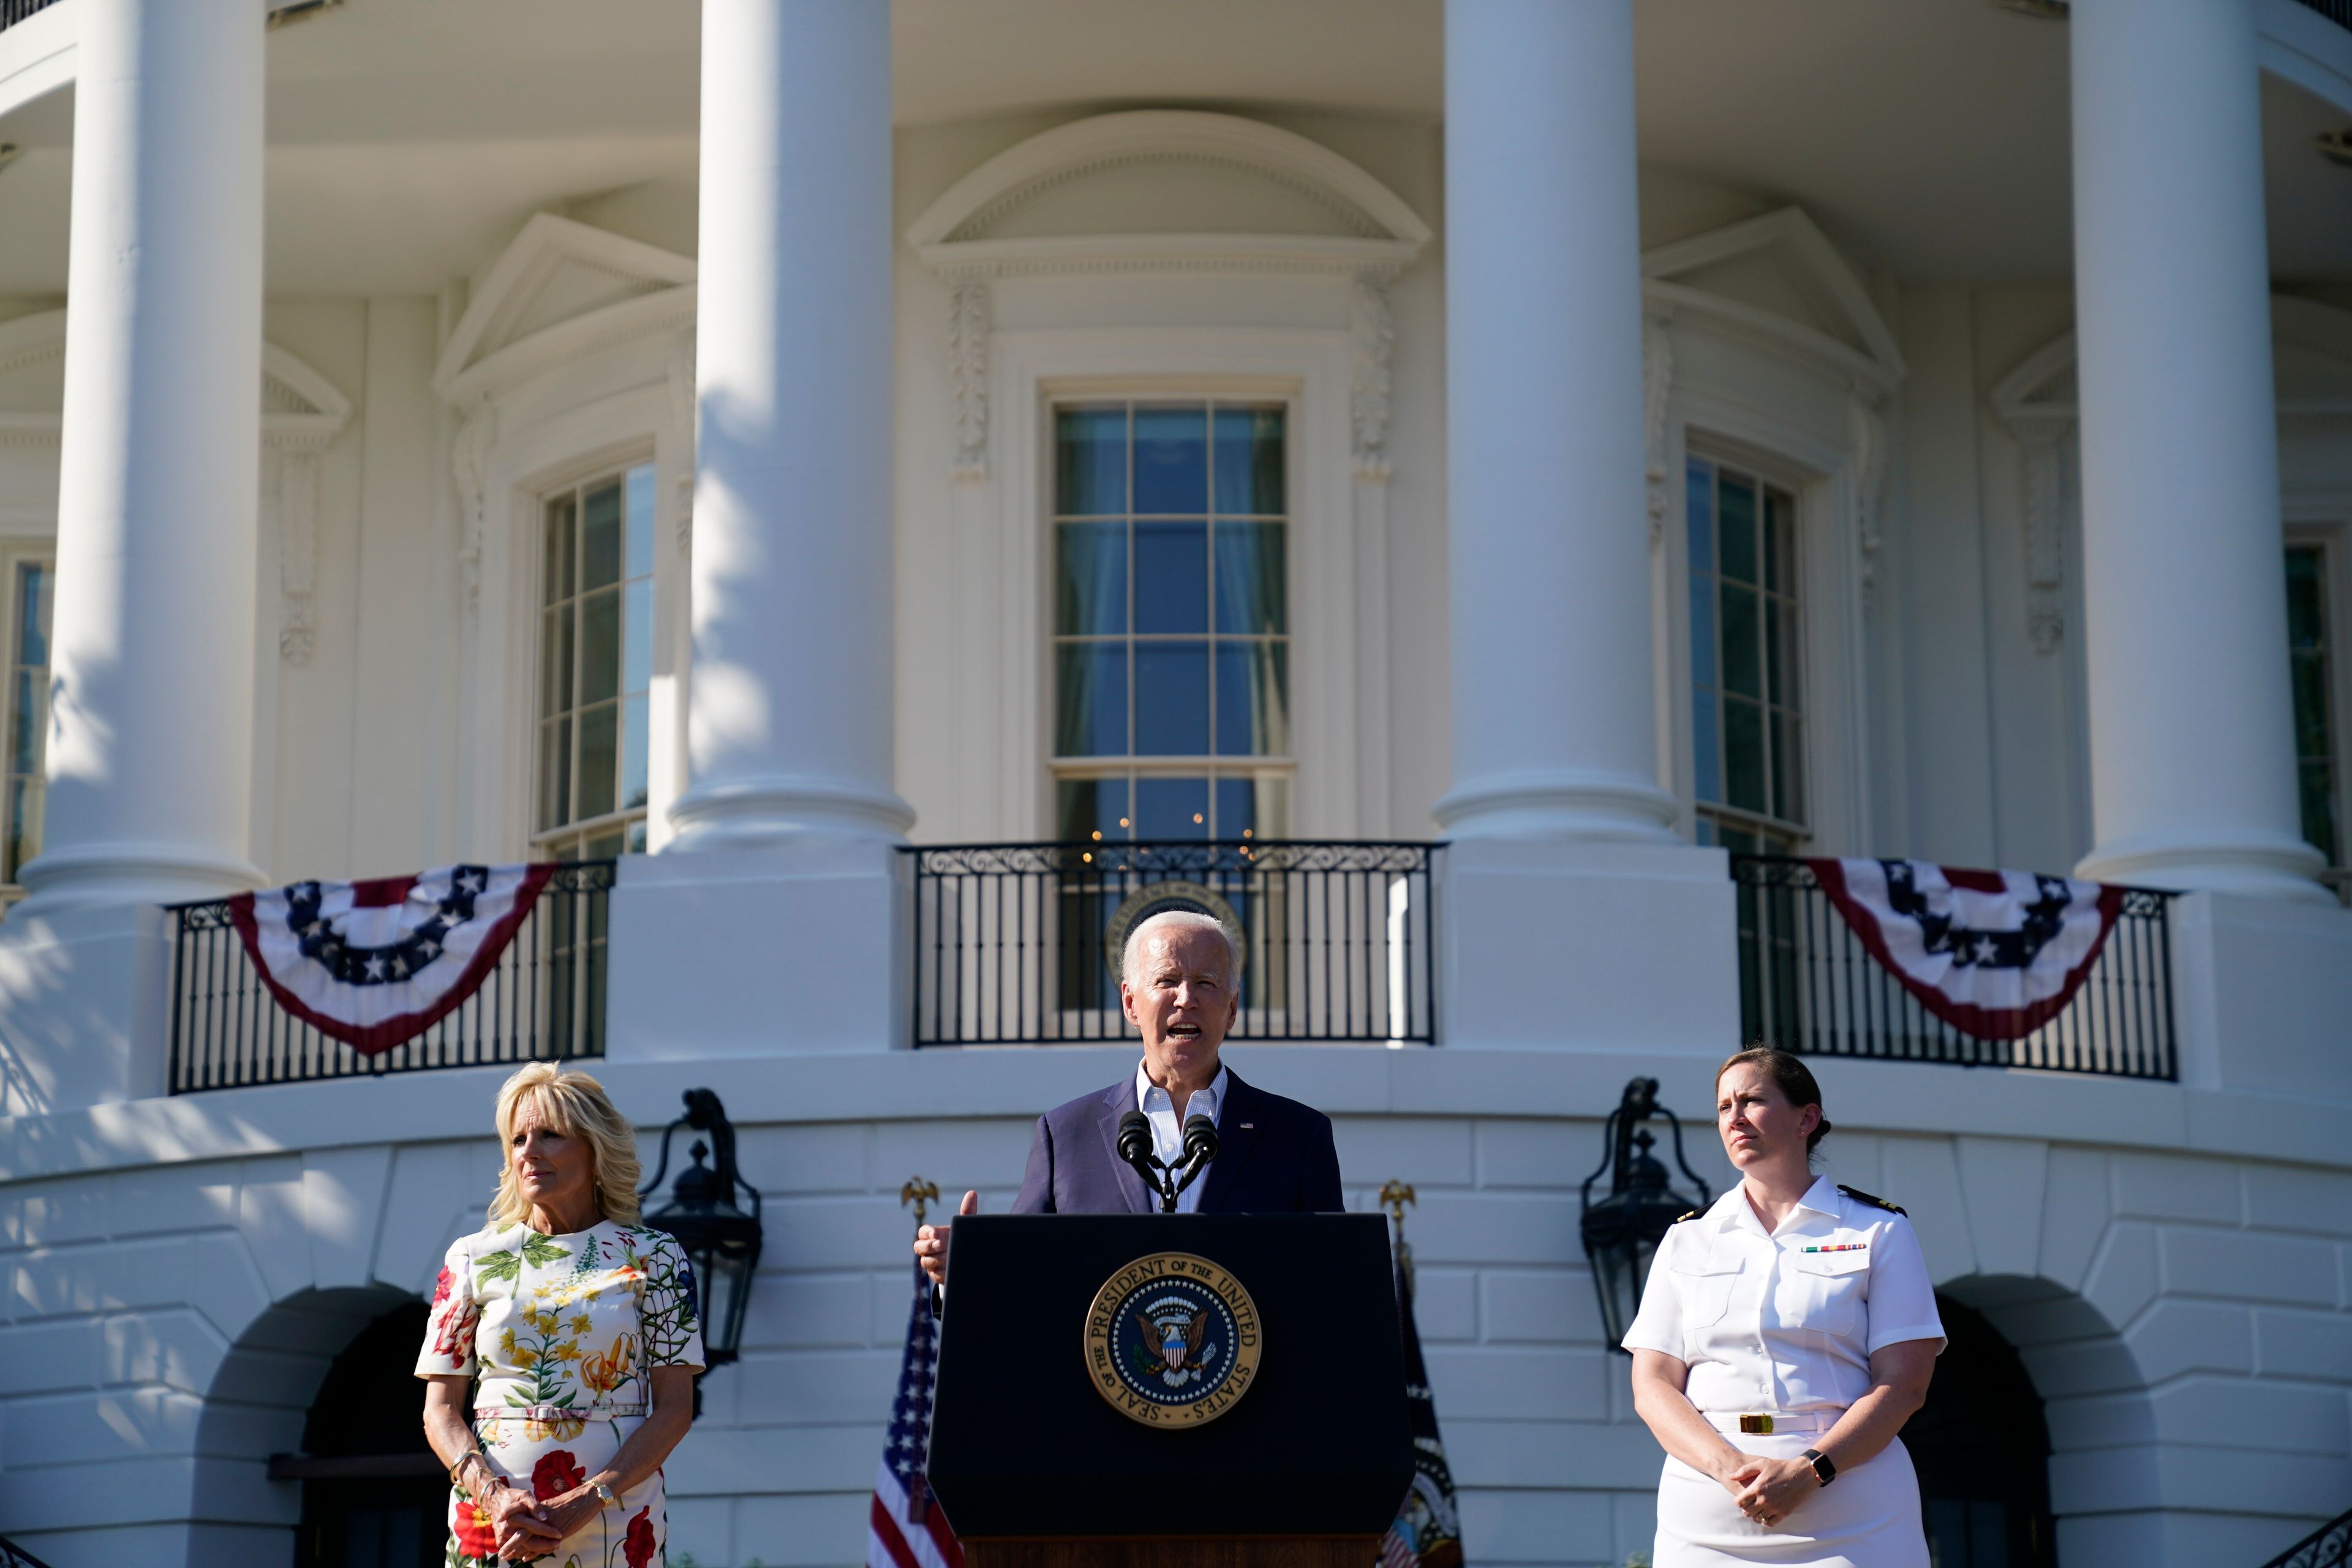
POLYGON ((1289 832, 1284 409, 1054 411, 1054 830, 1289 832))

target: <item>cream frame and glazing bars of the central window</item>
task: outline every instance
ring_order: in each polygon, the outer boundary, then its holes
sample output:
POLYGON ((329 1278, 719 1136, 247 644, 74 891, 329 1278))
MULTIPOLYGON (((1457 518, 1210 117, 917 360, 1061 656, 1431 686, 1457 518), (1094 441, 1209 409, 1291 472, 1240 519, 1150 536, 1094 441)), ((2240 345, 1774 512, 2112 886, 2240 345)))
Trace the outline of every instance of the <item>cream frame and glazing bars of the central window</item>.
MULTIPOLYGON (((1296 395, 1296 388, 1291 388, 1291 390, 1287 390, 1282 395, 1265 395, 1263 390, 1232 393, 1232 390, 1223 390, 1223 388, 1200 388, 1200 386, 1192 386, 1192 388, 1157 386, 1152 390, 1127 390, 1127 393, 1110 390, 1105 386, 1087 386, 1087 388, 1054 386, 1054 388, 1040 388, 1037 430, 1040 430, 1040 435, 1044 440, 1044 451, 1040 454, 1040 468, 1037 468, 1037 477, 1040 477, 1040 487, 1037 487, 1037 517, 1040 517, 1040 541, 1042 541, 1040 550, 1037 550, 1037 567, 1040 567, 1040 581, 1037 581, 1037 625, 1040 625, 1040 632, 1042 632, 1040 658, 1042 658, 1042 679, 1044 679, 1044 698, 1042 698, 1042 708, 1040 708, 1040 715, 1042 715, 1042 733, 1040 733, 1042 752, 1040 755, 1044 759, 1044 766, 1042 766, 1042 773, 1044 773, 1044 799, 1040 804, 1040 811, 1042 811, 1040 820, 1044 823, 1044 832, 1040 837, 1056 837, 1058 835, 1058 827, 1061 827, 1061 823, 1058 823, 1058 785, 1065 783, 1065 780, 1082 780, 1082 778, 1129 778, 1129 780, 1141 780, 1141 778, 1190 778, 1190 776, 1207 776, 1211 780, 1211 785, 1209 785, 1209 802, 1211 802, 1209 809, 1211 811, 1216 809, 1216 804, 1214 804, 1216 802, 1216 780, 1221 780, 1221 778, 1249 778, 1249 780, 1272 778, 1272 780, 1279 780, 1282 788, 1284 788, 1284 795, 1287 795, 1284 813, 1289 818, 1282 825, 1282 832, 1277 832, 1277 835, 1256 835, 1251 830, 1251 832, 1244 832, 1242 837, 1296 837, 1298 773, 1301 773, 1301 769, 1298 769, 1298 750, 1301 748, 1298 748, 1298 722, 1296 722, 1296 710, 1298 710, 1298 592, 1296 592, 1298 576, 1296 574, 1298 574, 1298 482, 1301 482, 1301 473, 1298 473, 1298 442, 1294 437, 1296 421, 1298 421, 1298 395, 1296 395), (1150 404, 1167 407, 1167 404, 1192 404, 1192 402, 1200 402, 1200 404, 1204 404, 1209 409, 1216 409, 1221 404, 1223 407, 1240 404, 1240 407, 1258 407, 1258 409, 1272 409, 1272 407, 1282 409, 1282 487, 1284 487, 1284 494, 1282 494, 1282 501, 1284 501, 1284 510, 1282 510, 1282 595, 1284 595, 1284 602, 1282 602, 1282 625, 1284 625, 1284 630, 1282 630, 1282 649, 1284 649, 1284 661, 1287 661, 1287 693, 1284 696, 1287 696, 1287 705, 1291 710, 1287 715, 1289 717, 1289 722, 1287 722, 1289 748, 1282 755, 1237 755, 1237 757, 1225 757, 1225 755, 1218 755, 1218 752, 1211 750, 1209 755, 1185 757, 1185 755, 1157 755, 1157 752, 1134 752, 1134 750, 1129 750, 1124 755, 1101 755, 1101 757, 1073 755, 1073 757, 1063 757, 1056 750, 1056 745, 1054 745, 1054 741, 1056 741, 1056 736, 1054 736, 1054 712, 1056 712, 1056 698, 1058 698, 1058 693, 1056 693, 1056 679, 1058 679, 1058 675, 1056 675, 1056 668, 1054 668, 1054 663, 1056 663, 1054 656, 1056 656, 1056 649, 1063 646, 1063 632, 1054 623, 1054 564, 1056 564, 1056 545, 1058 545, 1056 529, 1063 522, 1063 517, 1061 517, 1061 512, 1056 508, 1056 494, 1054 494, 1054 487, 1056 487, 1056 447, 1054 447, 1056 411, 1063 409, 1063 407, 1110 404, 1110 402, 1127 404, 1129 414, 1134 409, 1150 407, 1150 404)), ((1134 428, 1129 425, 1129 470, 1131 470, 1131 465, 1134 465, 1134 428)), ((1131 473, 1129 473, 1129 487, 1131 487, 1131 482, 1134 480, 1131 480, 1131 473)), ((1131 541, 1134 541, 1134 524, 1136 524, 1138 517, 1141 515, 1134 510, 1134 496, 1129 494, 1129 510, 1122 512, 1122 520, 1129 524, 1129 548, 1131 548, 1131 541)), ((1202 517, 1204 524, 1209 524, 1211 534, 1214 534, 1214 524, 1209 522, 1211 517, 1214 517, 1214 508, 1211 508, 1211 512, 1204 512, 1204 517, 1202 517)), ((1131 583, 1134 583, 1134 559, 1129 557, 1129 585, 1131 583)), ((1129 597, 1129 609, 1131 609, 1131 604, 1134 604, 1134 599, 1129 597)), ((1150 637, 1150 635, 1136 632, 1134 625, 1129 623, 1127 632, 1122 635, 1122 642, 1124 642, 1124 646, 1134 649, 1136 642, 1143 639, 1143 637, 1150 637)), ((1211 722, 1211 748, 1214 748, 1214 724, 1216 724, 1214 682, 1216 682, 1216 646, 1221 642, 1221 635, 1211 625, 1209 630, 1202 632, 1200 639, 1207 642, 1209 649, 1211 649, 1211 654, 1209 654, 1209 670, 1211 670, 1211 675, 1209 675, 1209 679, 1211 679, 1209 722, 1211 722)), ((1244 637, 1235 637, 1232 642, 1244 642, 1244 637)), ((1134 731, 1134 668, 1129 668, 1129 731, 1134 731)), ((1131 745, 1131 741, 1129 741, 1129 745, 1131 745)), ((1228 837, 1232 837, 1232 835, 1228 835, 1228 837)))

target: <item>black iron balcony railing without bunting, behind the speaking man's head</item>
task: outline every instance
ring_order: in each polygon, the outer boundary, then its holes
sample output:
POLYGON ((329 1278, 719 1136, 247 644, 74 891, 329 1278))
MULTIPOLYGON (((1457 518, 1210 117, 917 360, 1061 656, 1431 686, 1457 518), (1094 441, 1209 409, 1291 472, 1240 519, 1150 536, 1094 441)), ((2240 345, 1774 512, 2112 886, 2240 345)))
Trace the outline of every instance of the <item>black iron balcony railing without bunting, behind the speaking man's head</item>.
POLYGON ((915 1044, 1120 1039, 1120 947, 1190 907, 1240 931, 1228 1039, 1437 1039, 1437 844, 915 846, 915 1044))

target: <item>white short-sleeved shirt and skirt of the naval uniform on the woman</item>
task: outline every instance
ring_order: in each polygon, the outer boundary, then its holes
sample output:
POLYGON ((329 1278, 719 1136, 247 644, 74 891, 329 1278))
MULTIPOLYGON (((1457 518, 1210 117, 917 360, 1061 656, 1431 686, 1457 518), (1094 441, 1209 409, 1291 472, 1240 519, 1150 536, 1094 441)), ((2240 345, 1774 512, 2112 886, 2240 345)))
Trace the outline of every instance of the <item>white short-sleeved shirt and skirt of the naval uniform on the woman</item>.
MULTIPOLYGON (((1684 1394, 1733 1448, 1792 1458, 1870 1392, 1870 1352, 1903 1340, 1940 1352, 1943 1338, 1910 1220, 1823 1178, 1780 1229, 1764 1229, 1738 1185, 1668 1229, 1625 1349, 1682 1361, 1684 1394), (1738 1432, 1740 1415, 1783 1420, 1757 1436, 1738 1432)), ((1924 1568, 1917 1474, 1903 1443, 1889 1443, 1766 1530, 1717 1481, 1668 1458, 1653 1561, 1924 1568)))

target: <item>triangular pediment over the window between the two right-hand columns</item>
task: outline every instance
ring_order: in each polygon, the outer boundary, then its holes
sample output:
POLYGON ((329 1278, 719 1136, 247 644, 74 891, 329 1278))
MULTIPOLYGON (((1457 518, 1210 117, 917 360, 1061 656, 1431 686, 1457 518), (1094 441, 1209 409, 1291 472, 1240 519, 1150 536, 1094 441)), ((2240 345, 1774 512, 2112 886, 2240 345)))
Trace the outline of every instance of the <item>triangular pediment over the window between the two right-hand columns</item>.
POLYGON ((1896 334, 1797 207, 1644 252, 1642 294, 1799 348, 1879 393, 1903 381, 1896 334))

